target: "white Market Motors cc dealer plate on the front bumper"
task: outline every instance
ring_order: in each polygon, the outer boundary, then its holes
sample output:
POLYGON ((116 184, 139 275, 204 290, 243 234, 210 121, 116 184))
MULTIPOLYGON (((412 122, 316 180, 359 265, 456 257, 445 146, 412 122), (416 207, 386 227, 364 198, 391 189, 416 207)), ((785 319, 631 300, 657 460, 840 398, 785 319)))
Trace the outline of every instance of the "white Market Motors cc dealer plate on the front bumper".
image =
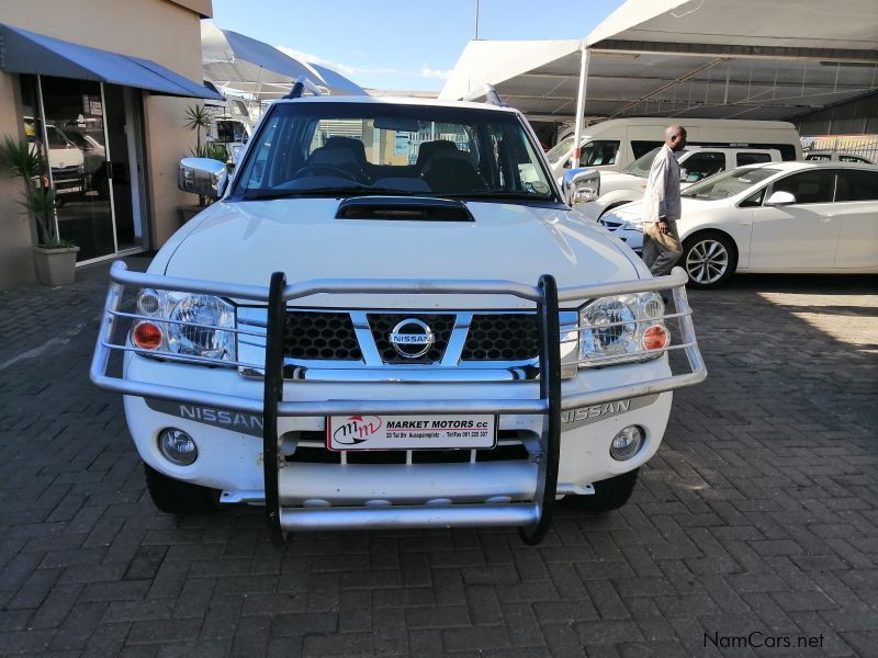
POLYGON ((329 450, 435 450, 494 447, 497 417, 330 416, 326 419, 329 450))

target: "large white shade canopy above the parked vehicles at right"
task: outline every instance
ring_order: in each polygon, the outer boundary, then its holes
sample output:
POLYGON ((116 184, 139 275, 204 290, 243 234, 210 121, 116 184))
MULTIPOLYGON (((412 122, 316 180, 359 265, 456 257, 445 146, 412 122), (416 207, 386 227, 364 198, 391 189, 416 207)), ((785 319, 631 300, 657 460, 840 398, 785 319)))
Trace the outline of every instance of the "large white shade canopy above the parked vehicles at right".
POLYGON ((629 0, 582 41, 473 41, 439 98, 493 84, 532 120, 790 120, 878 90, 878 1, 629 0))

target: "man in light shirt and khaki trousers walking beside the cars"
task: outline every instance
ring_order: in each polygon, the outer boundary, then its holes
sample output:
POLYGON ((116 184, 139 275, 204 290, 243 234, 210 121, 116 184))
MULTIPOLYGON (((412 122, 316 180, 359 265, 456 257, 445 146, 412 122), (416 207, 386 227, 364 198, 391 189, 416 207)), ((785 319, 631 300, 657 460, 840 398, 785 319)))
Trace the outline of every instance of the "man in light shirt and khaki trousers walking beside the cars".
POLYGON ((643 262, 653 276, 671 272, 683 254, 679 219, 679 164, 674 155, 686 146, 686 129, 665 129, 665 145, 655 156, 643 194, 643 262))

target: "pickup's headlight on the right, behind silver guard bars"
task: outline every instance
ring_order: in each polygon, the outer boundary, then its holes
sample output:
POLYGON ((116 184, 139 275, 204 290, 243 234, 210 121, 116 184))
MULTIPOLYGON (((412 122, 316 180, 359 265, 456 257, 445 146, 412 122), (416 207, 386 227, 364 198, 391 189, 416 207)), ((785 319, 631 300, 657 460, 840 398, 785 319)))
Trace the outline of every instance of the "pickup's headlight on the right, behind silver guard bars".
POLYGON ((658 293, 600 297, 579 309, 581 365, 655 359, 671 342, 658 293))

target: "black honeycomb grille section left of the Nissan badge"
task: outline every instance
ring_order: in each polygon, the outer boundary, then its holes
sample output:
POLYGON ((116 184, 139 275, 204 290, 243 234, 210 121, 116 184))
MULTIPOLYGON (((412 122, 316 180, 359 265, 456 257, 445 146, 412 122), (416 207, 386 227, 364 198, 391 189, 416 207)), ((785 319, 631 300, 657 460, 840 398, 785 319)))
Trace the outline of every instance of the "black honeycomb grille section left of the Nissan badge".
POLYGON ((286 313, 283 354, 292 359, 337 361, 363 358, 349 314, 306 310, 286 313))

